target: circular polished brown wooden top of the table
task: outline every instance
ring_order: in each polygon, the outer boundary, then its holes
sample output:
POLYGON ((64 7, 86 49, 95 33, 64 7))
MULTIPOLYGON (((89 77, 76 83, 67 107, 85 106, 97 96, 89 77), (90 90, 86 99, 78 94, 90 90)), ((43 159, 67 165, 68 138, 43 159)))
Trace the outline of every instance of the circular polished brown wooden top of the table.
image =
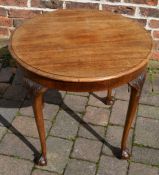
POLYGON ((97 10, 58 10, 26 21, 10 50, 25 69, 69 82, 111 80, 148 62, 148 32, 121 15, 97 10))

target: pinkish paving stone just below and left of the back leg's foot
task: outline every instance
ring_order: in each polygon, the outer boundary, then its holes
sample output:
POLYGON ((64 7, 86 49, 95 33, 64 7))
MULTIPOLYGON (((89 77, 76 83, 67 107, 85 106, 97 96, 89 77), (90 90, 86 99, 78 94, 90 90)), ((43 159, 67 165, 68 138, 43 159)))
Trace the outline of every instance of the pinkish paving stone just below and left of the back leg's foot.
POLYGON ((108 109, 88 106, 83 119, 88 123, 106 126, 108 124, 109 115, 110 111, 108 109))

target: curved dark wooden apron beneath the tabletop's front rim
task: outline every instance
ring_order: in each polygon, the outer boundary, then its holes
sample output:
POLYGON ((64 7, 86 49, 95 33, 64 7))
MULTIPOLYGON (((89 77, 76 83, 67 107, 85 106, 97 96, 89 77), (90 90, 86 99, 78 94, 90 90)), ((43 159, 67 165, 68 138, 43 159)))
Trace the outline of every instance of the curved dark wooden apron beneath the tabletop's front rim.
POLYGON ((72 92, 93 92, 119 87, 123 84, 129 83, 133 79, 136 79, 143 71, 145 71, 146 66, 147 65, 143 66, 141 69, 138 69, 137 71, 134 71, 129 75, 124 75, 115 79, 96 82, 67 82, 42 77, 18 65, 18 67, 20 67, 20 69, 23 71, 26 78, 50 89, 72 92))

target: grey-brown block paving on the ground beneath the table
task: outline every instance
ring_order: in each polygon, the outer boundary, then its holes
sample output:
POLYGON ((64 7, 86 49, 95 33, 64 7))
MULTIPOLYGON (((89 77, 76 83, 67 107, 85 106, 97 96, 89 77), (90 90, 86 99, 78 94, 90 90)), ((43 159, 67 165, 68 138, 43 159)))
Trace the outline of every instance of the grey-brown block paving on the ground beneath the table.
POLYGON ((45 167, 33 163, 40 143, 31 96, 18 70, 6 79, 0 82, 0 175, 159 175, 159 76, 153 80, 153 92, 149 78, 144 85, 129 135, 129 161, 114 156, 123 132, 127 86, 114 90, 112 106, 104 103, 106 91, 49 90, 44 98, 45 167))

